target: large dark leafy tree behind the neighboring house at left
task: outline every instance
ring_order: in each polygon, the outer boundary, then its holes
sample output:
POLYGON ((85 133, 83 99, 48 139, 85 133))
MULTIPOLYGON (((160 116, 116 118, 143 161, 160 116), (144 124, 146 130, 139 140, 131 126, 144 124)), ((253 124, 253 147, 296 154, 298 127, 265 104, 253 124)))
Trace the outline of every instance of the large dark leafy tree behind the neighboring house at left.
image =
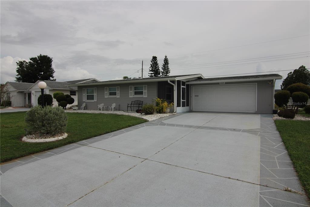
POLYGON ((16 82, 56 81, 54 79, 55 71, 52 66, 53 58, 40 54, 29 59, 29 61, 20 60, 16 62, 16 82))

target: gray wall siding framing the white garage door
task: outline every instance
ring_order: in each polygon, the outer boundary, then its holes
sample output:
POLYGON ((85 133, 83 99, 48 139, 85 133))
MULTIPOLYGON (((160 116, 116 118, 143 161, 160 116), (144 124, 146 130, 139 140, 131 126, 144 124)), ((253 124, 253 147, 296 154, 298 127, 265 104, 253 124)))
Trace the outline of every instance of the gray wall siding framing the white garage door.
MULTIPOLYGON (((273 80, 270 80, 273 81, 273 80)), ((255 113, 271 114, 273 109, 273 83, 269 84, 269 81, 244 81, 244 82, 226 82, 226 84, 246 84, 257 83, 257 110, 255 113)), ((191 86, 201 85, 219 85, 219 83, 202 83, 192 84, 191 86)), ((192 90, 190 89, 190 99, 192 103, 192 90)), ((191 108, 192 110, 192 108, 191 108)))

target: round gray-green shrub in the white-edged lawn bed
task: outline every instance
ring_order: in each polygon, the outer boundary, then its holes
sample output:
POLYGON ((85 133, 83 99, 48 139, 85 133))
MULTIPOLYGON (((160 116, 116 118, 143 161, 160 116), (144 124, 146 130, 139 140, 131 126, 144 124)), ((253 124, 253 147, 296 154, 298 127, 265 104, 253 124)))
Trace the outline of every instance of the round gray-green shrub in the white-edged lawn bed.
POLYGON ((68 117, 60 107, 36 106, 26 113, 25 122, 28 135, 56 135, 66 131, 68 117))

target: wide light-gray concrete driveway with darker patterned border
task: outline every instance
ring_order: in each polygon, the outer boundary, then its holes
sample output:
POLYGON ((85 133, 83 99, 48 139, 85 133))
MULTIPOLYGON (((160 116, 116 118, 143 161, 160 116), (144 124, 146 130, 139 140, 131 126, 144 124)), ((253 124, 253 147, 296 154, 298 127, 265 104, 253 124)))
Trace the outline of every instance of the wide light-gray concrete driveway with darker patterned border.
POLYGON ((309 205, 292 168, 270 115, 184 113, 1 165, 1 206, 309 205))

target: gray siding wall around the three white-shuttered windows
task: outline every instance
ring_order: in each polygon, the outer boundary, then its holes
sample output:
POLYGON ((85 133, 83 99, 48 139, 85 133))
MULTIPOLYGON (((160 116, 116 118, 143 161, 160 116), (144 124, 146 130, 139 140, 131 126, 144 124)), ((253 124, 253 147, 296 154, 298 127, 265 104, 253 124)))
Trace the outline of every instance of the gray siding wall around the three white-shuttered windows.
MULTIPOLYGON (((143 82, 143 83, 126 83, 126 84, 110 84, 110 85, 91 85, 91 86, 78 86, 78 107, 81 108, 83 103, 86 103, 86 109, 97 109, 97 105, 104 104, 111 106, 116 104, 117 110, 127 110, 127 104, 131 101, 141 100, 143 104, 150 104, 152 100, 157 97, 157 82, 143 82), (129 86, 147 85, 147 97, 129 97, 129 86), (120 87, 120 97, 107 97, 104 98, 104 87, 120 87), (83 88, 97 88, 97 101, 83 101, 83 88)), ((136 110, 137 108, 135 108, 136 110)), ((130 110, 130 109, 129 109, 130 110)))

